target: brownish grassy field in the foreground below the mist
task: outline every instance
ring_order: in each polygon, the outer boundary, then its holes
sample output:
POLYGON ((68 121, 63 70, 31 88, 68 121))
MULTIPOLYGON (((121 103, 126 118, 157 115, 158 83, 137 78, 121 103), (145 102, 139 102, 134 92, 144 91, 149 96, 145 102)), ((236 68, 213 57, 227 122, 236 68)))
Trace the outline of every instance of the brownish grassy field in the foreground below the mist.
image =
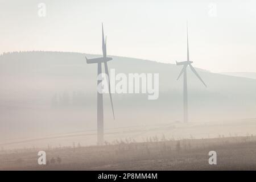
POLYGON ((1 170, 256 170, 256 137, 218 137, 147 142, 116 140, 105 146, 24 148, 1 151, 1 170), (38 165, 38 151, 47 165, 38 165), (209 165, 209 151, 217 165, 209 165))

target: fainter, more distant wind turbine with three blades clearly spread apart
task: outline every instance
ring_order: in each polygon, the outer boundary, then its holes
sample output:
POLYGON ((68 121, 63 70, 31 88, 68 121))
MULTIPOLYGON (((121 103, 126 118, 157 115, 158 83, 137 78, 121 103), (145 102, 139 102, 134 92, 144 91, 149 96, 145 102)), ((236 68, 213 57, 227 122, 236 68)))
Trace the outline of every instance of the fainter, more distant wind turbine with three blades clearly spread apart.
POLYGON ((189 48, 188 48, 188 23, 187 23, 187 61, 177 62, 177 65, 183 65, 183 68, 180 72, 179 77, 177 77, 177 80, 179 80, 180 76, 183 74, 183 107, 184 107, 184 122, 188 122, 188 86, 187 86, 187 67, 189 66, 193 73, 199 78, 201 82, 207 87, 205 82, 202 80, 202 78, 199 76, 199 74, 196 72, 196 69, 191 65, 193 61, 189 61, 189 48))

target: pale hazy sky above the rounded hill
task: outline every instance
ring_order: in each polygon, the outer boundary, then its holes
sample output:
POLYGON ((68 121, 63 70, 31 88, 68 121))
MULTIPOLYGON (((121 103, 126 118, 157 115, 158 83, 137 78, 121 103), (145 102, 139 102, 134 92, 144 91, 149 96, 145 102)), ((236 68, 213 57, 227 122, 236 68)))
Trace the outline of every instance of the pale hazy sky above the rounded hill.
POLYGON ((175 63, 187 57, 212 72, 256 72, 256 1, 0 0, 0 52, 102 53, 175 63), (39 17, 39 3, 46 17, 39 17))

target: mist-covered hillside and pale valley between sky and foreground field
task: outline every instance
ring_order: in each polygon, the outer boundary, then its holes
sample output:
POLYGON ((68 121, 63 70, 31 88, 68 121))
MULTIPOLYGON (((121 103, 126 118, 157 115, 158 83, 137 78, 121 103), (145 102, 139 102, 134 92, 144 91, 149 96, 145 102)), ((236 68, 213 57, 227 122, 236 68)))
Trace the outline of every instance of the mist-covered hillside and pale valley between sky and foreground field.
MULTIPOLYGON (((97 57, 97 55, 86 55, 97 57)), ((104 94, 106 140, 151 135, 173 138, 255 134, 256 80, 188 69, 189 123, 183 123, 181 67, 112 56, 115 73, 159 73, 159 98, 104 94)), ((175 62, 175 61, 174 61, 175 62)), ((13 52, 0 56, 1 147, 96 144, 97 66, 84 53, 13 52)))

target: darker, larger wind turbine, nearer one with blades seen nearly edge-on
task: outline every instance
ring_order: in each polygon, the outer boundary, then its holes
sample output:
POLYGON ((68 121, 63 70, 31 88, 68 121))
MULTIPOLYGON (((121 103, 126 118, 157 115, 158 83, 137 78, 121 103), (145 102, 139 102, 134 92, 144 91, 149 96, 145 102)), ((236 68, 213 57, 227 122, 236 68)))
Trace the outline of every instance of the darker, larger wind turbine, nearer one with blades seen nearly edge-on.
MULTIPOLYGON (((102 73, 102 63, 104 63, 105 73, 106 75, 108 75, 108 84, 109 84, 108 88, 109 88, 109 97, 110 97, 111 106, 112 106, 112 113, 115 119, 112 94, 110 92, 109 69, 107 64, 108 61, 112 60, 112 57, 107 57, 106 55, 106 38, 104 37, 103 23, 102 23, 102 53, 103 53, 102 57, 98 57, 94 59, 87 59, 87 57, 85 58, 86 58, 86 63, 88 64, 93 64, 93 63, 98 64, 98 81, 97 81, 98 85, 101 84, 102 82, 102 78, 100 78, 100 75, 102 73)), ((97 92, 97 141, 98 141, 98 145, 102 145, 104 143, 104 117, 103 117, 102 88, 98 88, 98 92, 97 92)))

